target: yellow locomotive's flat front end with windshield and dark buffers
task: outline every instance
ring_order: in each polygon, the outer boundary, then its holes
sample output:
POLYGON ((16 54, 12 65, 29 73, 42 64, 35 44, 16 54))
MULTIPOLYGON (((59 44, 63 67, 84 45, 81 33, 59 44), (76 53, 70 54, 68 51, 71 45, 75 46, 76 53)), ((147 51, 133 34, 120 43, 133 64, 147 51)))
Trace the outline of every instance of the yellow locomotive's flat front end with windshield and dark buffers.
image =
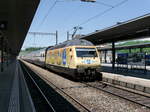
POLYGON ((100 58, 95 46, 78 46, 76 51, 76 67, 79 78, 100 78, 100 58))

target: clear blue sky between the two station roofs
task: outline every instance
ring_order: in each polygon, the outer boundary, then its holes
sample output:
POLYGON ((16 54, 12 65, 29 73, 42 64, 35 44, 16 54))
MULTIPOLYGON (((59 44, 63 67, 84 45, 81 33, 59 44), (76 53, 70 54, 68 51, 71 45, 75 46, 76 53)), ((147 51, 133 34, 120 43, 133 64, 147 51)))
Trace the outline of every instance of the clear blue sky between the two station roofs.
MULTIPOLYGON (((94 3, 41 0, 29 32, 55 33, 57 30, 58 43, 61 43, 66 41, 67 31, 72 34, 75 26, 82 27, 77 34, 86 35, 148 13, 150 0, 96 0, 94 3)), ((53 35, 27 34, 22 49, 46 47, 55 43, 53 35)))

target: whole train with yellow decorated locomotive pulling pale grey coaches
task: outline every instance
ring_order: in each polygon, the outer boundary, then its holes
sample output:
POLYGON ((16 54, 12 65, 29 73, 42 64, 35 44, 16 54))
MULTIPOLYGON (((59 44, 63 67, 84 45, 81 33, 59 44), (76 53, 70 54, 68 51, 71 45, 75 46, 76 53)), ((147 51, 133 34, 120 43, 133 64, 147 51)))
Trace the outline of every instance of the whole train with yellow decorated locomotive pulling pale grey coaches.
POLYGON ((23 59, 77 80, 101 77, 98 50, 91 42, 83 39, 69 40, 31 52, 23 59))

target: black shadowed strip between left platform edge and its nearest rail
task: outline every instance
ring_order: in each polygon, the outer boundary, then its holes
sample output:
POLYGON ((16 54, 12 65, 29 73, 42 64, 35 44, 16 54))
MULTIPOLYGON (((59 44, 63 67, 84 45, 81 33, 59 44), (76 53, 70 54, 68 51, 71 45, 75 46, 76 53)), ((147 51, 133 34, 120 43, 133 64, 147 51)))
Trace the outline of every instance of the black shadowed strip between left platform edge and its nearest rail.
POLYGON ((21 67, 24 73, 25 80, 27 82, 34 106, 37 112, 56 112, 52 104, 48 101, 36 81, 31 74, 27 71, 27 68, 21 63, 21 67))

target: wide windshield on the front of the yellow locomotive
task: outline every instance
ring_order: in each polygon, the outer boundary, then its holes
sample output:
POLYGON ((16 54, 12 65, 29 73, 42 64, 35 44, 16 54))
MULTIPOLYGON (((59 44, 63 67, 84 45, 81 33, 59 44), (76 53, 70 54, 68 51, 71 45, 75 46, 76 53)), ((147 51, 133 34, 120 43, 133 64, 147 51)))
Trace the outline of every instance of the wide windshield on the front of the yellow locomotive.
POLYGON ((77 57, 97 57, 95 48, 76 48, 77 57))

